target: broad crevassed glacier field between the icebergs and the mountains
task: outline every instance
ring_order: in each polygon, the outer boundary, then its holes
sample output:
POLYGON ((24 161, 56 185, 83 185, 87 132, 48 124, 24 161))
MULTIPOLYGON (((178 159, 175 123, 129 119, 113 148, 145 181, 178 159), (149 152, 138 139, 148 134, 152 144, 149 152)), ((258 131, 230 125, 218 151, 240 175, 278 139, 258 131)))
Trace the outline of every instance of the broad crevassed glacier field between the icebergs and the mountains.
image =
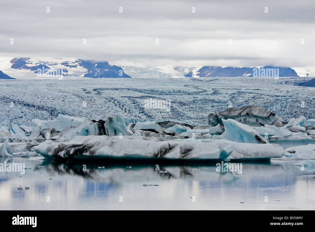
POLYGON ((282 121, 314 118, 315 89, 296 86, 311 78, 79 78, 1 80, 1 122, 27 125, 58 114, 103 119, 122 112, 127 123, 175 121, 208 125, 209 113, 260 105, 282 121), (170 110, 145 107, 168 100, 170 110))

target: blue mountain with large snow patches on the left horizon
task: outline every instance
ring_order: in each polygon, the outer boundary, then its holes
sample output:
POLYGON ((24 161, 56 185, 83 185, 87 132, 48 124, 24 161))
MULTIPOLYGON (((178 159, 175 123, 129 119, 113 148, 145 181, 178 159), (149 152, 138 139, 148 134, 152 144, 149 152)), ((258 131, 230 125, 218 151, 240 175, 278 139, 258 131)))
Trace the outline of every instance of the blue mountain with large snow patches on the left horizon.
POLYGON ((10 68, 37 74, 57 74, 91 78, 131 78, 121 67, 111 66, 108 62, 91 60, 65 60, 54 58, 52 61, 35 61, 29 57, 16 57, 10 60, 10 68), (42 71, 44 70, 44 72, 42 71))

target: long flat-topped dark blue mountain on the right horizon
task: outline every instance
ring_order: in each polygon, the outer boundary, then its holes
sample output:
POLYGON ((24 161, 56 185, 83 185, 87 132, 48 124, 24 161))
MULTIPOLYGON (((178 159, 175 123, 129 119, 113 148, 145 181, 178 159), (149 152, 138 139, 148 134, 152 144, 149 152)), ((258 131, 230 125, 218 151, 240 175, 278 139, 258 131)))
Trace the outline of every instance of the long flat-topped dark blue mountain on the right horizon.
MULTIPOLYGON (((237 67, 219 67, 219 66, 203 66, 197 71, 198 77, 253 77, 255 68, 237 68, 237 67)), ((279 74, 279 77, 299 77, 294 69, 285 67, 265 66, 258 70, 273 69, 279 74), (278 68, 278 69, 277 69, 278 68)), ((259 71, 258 71, 259 72, 259 71)), ((256 75, 257 76, 257 75, 256 75)), ((258 75, 263 77, 262 75, 258 75)), ((265 75, 266 76, 266 75, 265 75)))

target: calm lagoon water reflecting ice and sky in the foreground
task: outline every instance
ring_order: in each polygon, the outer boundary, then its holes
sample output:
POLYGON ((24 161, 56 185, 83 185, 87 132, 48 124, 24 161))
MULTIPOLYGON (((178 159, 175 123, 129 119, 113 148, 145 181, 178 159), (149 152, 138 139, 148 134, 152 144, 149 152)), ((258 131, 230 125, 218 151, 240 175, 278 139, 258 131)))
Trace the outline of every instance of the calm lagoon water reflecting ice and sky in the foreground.
POLYGON ((239 175, 207 163, 160 164, 167 171, 160 173, 155 163, 83 170, 84 163, 0 157, 26 167, 24 175, 0 172, 0 210, 313 210, 315 168, 291 166, 300 161, 242 162, 239 175))

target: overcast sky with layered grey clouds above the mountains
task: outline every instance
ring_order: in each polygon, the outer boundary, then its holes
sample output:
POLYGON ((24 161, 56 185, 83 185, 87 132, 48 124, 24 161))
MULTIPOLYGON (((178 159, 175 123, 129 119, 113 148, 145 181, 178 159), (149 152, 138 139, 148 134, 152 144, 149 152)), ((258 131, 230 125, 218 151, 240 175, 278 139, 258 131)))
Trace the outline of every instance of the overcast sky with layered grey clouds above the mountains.
POLYGON ((314 67, 314 15, 311 0, 1 1, 0 56, 314 67))

